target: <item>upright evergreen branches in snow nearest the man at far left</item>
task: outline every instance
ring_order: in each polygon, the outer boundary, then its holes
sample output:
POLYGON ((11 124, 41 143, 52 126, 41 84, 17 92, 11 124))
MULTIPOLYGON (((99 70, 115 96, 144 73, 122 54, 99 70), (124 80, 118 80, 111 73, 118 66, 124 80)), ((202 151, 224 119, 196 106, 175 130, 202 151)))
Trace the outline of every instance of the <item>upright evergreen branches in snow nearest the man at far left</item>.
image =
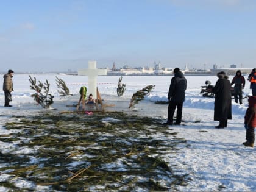
POLYGON ((46 79, 46 82, 44 84, 39 80, 37 85, 37 80, 35 79, 35 77, 34 79, 32 79, 32 77, 29 76, 29 82, 31 84, 30 88, 37 92, 31 95, 32 98, 34 98, 37 104, 41 105, 43 108, 49 108, 51 104, 54 103, 54 96, 49 94, 50 84, 48 80, 46 79))

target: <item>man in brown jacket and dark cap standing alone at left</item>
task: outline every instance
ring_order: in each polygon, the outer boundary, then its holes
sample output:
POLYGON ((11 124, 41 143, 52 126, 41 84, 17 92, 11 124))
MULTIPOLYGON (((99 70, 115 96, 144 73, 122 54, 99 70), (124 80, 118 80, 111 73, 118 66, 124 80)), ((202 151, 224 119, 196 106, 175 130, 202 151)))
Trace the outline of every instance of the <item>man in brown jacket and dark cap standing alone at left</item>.
POLYGON ((13 91, 13 84, 12 84, 12 77, 13 71, 9 70, 7 74, 4 75, 4 84, 2 90, 4 91, 4 107, 12 107, 10 105, 10 101, 12 101, 12 94, 13 91))

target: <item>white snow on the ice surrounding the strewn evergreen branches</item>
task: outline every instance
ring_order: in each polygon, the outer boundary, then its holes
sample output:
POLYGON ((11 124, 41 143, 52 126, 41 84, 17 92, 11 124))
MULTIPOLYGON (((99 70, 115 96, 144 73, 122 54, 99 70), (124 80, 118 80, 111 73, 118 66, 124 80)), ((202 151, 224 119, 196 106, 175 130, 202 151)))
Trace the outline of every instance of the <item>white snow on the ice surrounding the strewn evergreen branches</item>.
MULTIPOLYGON (((2 74, 3 75, 3 74, 2 74)), ((68 85, 71 94, 79 94, 79 88, 87 83, 87 76, 69 76, 65 74, 31 74, 37 80, 44 82, 49 80, 50 92, 54 95, 53 108, 61 108, 71 98, 58 96, 55 76, 63 79, 68 85)), ((214 98, 203 98, 201 85, 205 80, 210 80, 214 85, 216 76, 185 76, 188 87, 183 105, 182 126, 168 126, 177 132, 177 137, 187 140, 179 144, 177 154, 165 155, 165 161, 169 166, 175 166, 176 174, 189 174, 190 181, 186 186, 179 186, 180 191, 256 191, 256 155, 255 148, 244 147, 241 143, 245 141, 246 131, 244 129, 244 114, 247 109, 247 99, 243 99, 243 105, 238 105, 232 100, 232 120, 228 121, 227 129, 215 129, 218 121, 213 121, 214 98)), ((232 79, 233 76, 230 76, 232 79)), ((246 77, 246 76, 245 76, 246 77)), ((119 110, 155 118, 167 118, 168 105, 154 104, 155 101, 167 101, 167 93, 171 76, 123 76, 126 91, 121 98, 116 95, 116 87, 119 76, 99 76, 98 88, 105 101, 127 101, 127 105, 119 110), (132 94, 146 85, 155 85, 153 92, 144 101, 129 110, 129 99, 132 94)), ((2 81, 0 81, 2 84, 2 81)), ((30 97, 33 90, 29 87, 29 74, 15 74, 13 77, 12 93, 13 107, 2 107, 4 105, 4 92, 0 93, 0 134, 7 132, 18 132, 19 130, 6 130, 4 123, 18 121, 12 115, 30 114, 31 112, 43 110, 35 105, 30 97)), ((86 85, 85 85, 86 86, 86 85)), ((244 95, 251 94, 249 82, 246 82, 244 95)), ((77 96, 78 101, 78 96, 77 96)), ((104 119, 106 122, 116 121, 114 118, 104 119)), ((160 137, 160 135, 155 135, 160 137)), ((1 143, 1 152, 8 152, 11 148, 17 148, 17 143, 1 143)), ((19 149, 24 153, 26 149, 19 149)), ((32 159, 33 160, 33 159, 32 159)), ((35 160, 36 161, 36 160, 35 160)), ((2 172, 0 180, 4 181, 8 176, 2 172)), ((16 186, 27 185, 30 188, 34 183, 24 182, 16 178, 16 186)), ((39 190, 39 188, 37 188, 39 190)), ((4 187, 0 187, 4 191, 4 187)))

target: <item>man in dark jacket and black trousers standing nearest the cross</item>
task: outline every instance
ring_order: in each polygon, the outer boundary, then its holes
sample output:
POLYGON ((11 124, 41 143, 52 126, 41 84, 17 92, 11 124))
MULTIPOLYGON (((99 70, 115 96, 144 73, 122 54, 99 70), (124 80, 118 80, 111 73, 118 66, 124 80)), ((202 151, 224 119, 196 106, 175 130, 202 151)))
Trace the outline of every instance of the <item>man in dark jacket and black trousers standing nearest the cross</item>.
POLYGON ((173 115, 177 107, 176 122, 174 124, 180 125, 182 121, 182 108, 185 101, 185 90, 187 88, 187 79, 179 68, 174 69, 174 77, 171 79, 168 92, 168 119, 166 124, 173 124, 173 115))

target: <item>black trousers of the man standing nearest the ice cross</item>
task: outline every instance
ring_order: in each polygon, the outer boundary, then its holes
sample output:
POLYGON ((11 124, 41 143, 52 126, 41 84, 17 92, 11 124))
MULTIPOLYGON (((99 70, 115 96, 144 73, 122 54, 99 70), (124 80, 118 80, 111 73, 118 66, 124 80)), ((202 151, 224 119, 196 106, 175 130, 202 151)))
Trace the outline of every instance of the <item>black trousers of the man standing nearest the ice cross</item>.
POLYGON ((169 123, 169 124, 173 123, 173 115, 174 115, 176 107, 177 107, 176 123, 177 124, 181 123, 183 102, 171 102, 170 101, 169 106, 168 106, 168 119, 167 119, 167 123, 169 123))

